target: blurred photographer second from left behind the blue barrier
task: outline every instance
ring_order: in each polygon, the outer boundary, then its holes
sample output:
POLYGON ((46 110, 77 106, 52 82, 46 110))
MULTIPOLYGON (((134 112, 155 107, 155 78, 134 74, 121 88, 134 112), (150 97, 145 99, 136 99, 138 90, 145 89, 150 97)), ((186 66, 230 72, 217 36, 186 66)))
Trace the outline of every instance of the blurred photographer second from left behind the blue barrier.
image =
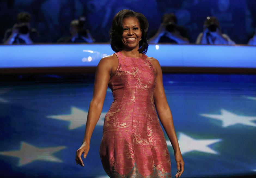
POLYGON ((70 22, 69 32, 71 36, 62 37, 57 42, 64 43, 92 43, 95 42, 90 31, 85 27, 85 17, 79 20, 74 19, 70 22))

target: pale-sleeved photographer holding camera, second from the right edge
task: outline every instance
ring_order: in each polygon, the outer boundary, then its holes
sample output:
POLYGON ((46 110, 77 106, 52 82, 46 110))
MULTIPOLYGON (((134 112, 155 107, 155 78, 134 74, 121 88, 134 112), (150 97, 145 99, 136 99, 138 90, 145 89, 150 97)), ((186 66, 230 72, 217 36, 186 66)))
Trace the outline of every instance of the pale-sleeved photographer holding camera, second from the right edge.
POLYGON ((203 25, 203 32, 197 36, 196 44, 234 45, 236 43, 221 32, 220 23, 216 17, 207 17, 203 25))

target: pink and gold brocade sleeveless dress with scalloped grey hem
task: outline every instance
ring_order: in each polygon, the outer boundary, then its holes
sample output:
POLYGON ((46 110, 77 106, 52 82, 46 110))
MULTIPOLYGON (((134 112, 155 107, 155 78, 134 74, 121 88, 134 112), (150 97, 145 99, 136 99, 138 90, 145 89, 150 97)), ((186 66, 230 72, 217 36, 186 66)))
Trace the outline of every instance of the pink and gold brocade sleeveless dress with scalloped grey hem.
POLYGON ((103 168, 111 178, 169 178, 170 154, 153 98, 156 71, 145 54, 115 54, 118 67, 108 84, 114 101, 99 151, 103 168))

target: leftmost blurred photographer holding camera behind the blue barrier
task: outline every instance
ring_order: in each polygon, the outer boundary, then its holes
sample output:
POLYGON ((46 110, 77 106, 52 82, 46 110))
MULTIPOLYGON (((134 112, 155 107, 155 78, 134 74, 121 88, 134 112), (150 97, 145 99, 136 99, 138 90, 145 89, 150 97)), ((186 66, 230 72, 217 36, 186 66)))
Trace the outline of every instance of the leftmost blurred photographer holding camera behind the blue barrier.
POLYGON ((39 32, 30 27, 31 15, 21 12, 17 15, 17 24, 5 31, 4 44, 33 44, 38 42, 39 32))

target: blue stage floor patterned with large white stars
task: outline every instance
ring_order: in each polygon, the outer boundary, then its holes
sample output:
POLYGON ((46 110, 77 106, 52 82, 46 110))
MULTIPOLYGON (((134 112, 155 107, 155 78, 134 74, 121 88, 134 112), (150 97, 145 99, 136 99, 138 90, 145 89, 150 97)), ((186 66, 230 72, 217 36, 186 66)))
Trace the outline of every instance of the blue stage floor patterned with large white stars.
MULTIPOLYGON (((0 177, 108 177, 99 146, 113 101, 109 88, 81 167, 75 152, 84 136, 94 75, 1 80, 0 177)), ((163 81, 185 161, 182 177, 256 174, 256 75, 164 74, 163 81)))

